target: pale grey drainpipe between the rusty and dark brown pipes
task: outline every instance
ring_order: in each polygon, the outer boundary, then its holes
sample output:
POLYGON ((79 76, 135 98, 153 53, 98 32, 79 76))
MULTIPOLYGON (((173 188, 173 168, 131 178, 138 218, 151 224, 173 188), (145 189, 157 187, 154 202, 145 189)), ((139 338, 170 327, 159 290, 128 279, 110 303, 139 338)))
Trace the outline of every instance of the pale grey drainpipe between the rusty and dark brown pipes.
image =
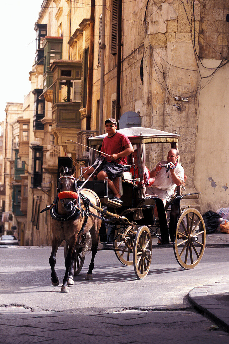
POLYGON ((100 127, 99 134, 103 133, 103 82, 104 82, 104 55, 105 55, 105 8, 106 0, 103 0, 102 9, 102 33, 101 33, 101 70, 100 70, 100 127))

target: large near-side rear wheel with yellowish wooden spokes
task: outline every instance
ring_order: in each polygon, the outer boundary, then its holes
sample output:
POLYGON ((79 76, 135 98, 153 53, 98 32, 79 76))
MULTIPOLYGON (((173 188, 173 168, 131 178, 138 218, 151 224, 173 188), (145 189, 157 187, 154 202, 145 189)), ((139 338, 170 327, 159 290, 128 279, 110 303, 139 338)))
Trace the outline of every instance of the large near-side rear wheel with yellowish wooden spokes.
POLYGON ((201 214, 196 209, 186 209, 179 217, 173 246, 180 266, 187 270, 195 268, 204 254, 205 244, 206 229, 201 214))

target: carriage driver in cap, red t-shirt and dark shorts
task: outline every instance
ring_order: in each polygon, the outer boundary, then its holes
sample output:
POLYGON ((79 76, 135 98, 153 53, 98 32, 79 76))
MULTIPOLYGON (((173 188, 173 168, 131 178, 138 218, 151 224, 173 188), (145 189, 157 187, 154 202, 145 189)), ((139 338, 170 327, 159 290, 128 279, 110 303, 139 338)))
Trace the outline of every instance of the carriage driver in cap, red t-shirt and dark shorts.
MULTIPOLYGON (((104 180, 108 177, 108 187, 113 192, 114 198, 112 200, 122 203, 121 195, 118 193, 113 180, 115 177, 121 175, 123 171, 127 171, 127 168, 124 165, 127 164, 127 155, 133 153, 134 149, 129 141, 128 137, 120 132, 117 132, 117 122, 114 118, 108 118, 105 120, 105 129, 108 133, 103 139, 101 155, 106 153, 109 155, 105 156, 105 161, 103 163, 102 169, 97 174, 98 180, 104 180)), ((95 170, 97 164, 89 166, 82 169, 85 180, 95 170)), ((90 178, 93 180, 93 177, 90 178)))

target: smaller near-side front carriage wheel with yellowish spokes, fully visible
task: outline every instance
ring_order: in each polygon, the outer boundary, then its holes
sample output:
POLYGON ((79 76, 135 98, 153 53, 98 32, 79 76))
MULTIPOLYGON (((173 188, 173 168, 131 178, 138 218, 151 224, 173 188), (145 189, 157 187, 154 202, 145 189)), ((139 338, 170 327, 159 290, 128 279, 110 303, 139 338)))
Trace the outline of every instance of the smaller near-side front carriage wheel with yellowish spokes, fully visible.
POLYGON ((134 241, 134 272, 139 279, 147 276, 152 259, 152 238, 147 226, 138 229, 134 241))

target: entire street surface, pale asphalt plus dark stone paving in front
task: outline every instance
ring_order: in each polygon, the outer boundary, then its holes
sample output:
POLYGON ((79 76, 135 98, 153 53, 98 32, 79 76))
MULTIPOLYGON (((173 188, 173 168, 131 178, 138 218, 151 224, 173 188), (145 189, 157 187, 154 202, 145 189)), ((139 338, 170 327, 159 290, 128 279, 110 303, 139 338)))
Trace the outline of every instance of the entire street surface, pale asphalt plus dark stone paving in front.
MULTIPOLYGON (((198 286, 226 285, 228 248, 206 247, 192 270, 177 264, 172 248, 153 249, 143 280, 113 251, 98 251, 93 280, 85 281, 90 253, 69 293, 51 284, 50 253, 50 247, 0 247, 1 343, 229 343, 223 327, 188 302, 190 290, 199 297, 198 286)), ((64 270, 61 247, 60 281, 64 270)))

